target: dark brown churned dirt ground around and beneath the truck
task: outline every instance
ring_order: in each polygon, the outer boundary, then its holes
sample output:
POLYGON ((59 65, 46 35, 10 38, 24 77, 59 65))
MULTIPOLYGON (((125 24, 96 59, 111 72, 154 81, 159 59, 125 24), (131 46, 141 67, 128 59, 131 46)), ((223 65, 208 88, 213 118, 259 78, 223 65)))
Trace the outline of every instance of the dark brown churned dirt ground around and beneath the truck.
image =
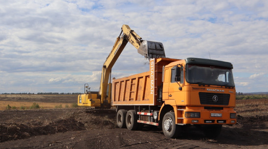
POLYGON ((184 128, 176 139, 152 126, 136 131, 116 128, 113 109, 2 110, 0 149, 267 149, 268 100, 240 103, 236 111, 238 123, 224 125, 213 140, 194 127, 184 128))

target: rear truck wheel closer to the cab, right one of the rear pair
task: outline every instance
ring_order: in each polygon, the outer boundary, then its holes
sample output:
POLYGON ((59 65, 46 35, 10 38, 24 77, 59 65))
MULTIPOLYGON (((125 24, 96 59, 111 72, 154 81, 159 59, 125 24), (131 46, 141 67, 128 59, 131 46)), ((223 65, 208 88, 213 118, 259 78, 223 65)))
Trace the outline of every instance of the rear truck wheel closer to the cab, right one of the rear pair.
POLYGON ((136 130, 138 128, 138 118, 135 110, 129 110, 126 116, 126 125, 129 130, 136 130))

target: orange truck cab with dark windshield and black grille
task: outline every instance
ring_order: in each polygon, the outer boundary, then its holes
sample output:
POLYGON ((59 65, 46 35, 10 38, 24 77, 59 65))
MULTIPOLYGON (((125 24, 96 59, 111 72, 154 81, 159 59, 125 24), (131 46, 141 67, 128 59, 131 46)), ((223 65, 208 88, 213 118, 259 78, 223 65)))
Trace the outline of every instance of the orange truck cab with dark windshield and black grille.
MULTIPOLYGON (((233 65, 228 62, 187 58, 164 67, 161 111, 173 108, 176 125, 211 126, 236 123, 233 65)), ((165 112, 159 120, 163 119, 165 112)), ((163 119, 163 121, 165 121, 163 119)), ((166 121, 166 125, 170 122, 166 121)))

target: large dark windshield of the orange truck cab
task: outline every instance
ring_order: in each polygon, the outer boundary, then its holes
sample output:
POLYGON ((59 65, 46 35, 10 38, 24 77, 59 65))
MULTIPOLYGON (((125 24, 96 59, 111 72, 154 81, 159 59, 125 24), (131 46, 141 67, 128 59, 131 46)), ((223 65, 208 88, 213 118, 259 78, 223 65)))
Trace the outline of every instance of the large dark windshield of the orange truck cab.
POLYGON ((190 84, 235 87, 232 69, 212 65, 187 64, 186 81, 190 84))

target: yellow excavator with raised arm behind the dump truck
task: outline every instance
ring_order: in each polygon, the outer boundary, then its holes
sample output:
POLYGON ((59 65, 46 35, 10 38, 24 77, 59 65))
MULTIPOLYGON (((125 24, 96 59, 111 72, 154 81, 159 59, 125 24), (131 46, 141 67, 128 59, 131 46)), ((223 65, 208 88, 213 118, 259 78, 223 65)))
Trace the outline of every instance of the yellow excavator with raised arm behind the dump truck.
POLYGON ((84 84, 84 94, 78 96, 78 106, 94 106, 95 108, 111 107, 111 68, 128 42, 131 43, 137 49, 137 52, 143 55, 145 59, 165 58, 162 43, 144 41, 128 25, 123 25, 120 35, 116 38, 112 50, 103 64, 99 92, 90 91, 89 85, 84 84))

